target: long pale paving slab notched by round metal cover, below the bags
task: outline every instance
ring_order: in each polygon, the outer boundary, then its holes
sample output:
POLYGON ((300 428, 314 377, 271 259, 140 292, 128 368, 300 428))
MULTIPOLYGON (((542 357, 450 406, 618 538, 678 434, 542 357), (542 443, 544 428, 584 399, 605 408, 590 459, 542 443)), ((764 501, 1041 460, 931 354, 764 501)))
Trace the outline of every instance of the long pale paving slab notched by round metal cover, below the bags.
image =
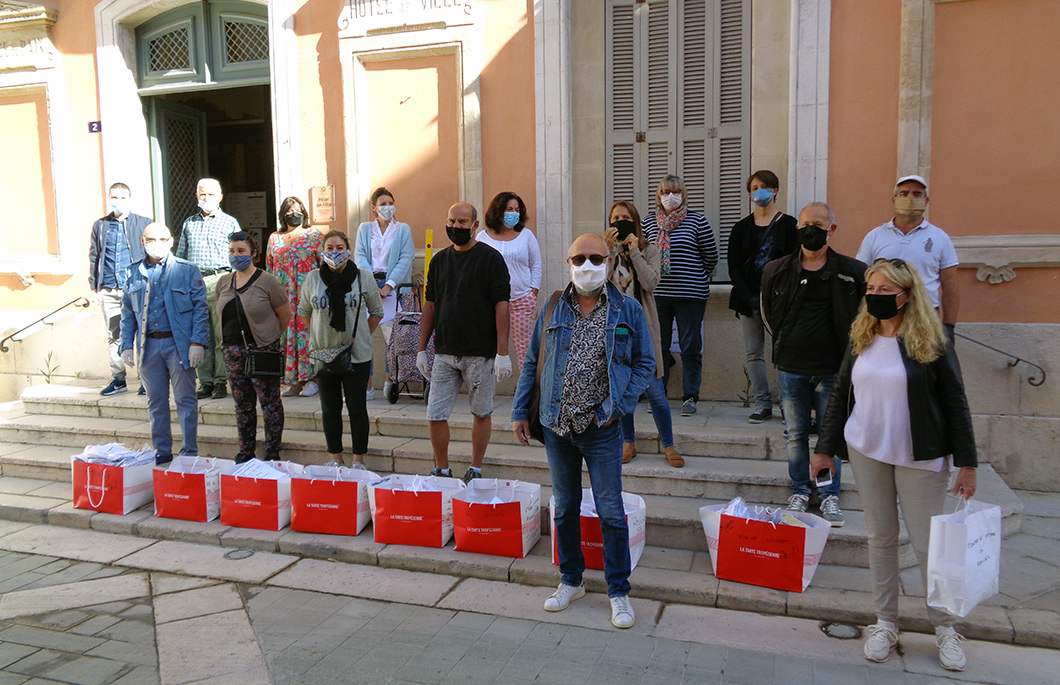
POLYGON ((246 559, 226 559, 231 551, 187 542, 155 542, 121 559, 121 565, 189 576, 260 583, 298 561, 296 557, 258 551, 246 559))

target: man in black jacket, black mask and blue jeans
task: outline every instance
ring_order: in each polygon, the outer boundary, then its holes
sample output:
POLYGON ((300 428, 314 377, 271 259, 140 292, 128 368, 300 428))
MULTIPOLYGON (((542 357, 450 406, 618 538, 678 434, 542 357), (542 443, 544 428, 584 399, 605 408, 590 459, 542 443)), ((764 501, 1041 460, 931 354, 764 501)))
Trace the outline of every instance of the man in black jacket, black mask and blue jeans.
MULTIPOLYGON (((799 249, 773 260, 762 274, 762 320, 773 336, 773 364, 780 379, 788 427, 788 508, 810 503, 810 414, 825 416, 835 385, 850 324, 865 295, 866 266, 828 247, 835 213, 810 203, 798 215, 799 249)), ((840 510, 840 460, 831 484, 820 487, 820 513, 833 526, 846 523, 840 510)))

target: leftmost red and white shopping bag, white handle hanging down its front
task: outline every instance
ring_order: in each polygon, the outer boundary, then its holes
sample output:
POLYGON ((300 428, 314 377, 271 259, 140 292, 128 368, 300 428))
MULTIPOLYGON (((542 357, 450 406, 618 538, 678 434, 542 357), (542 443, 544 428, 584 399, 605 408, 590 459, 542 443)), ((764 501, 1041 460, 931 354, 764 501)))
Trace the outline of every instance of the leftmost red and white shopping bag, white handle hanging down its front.
POLYGON ((154 464, 120 467, 72 459, 73 506, 124 515, 154 497, 154 464))

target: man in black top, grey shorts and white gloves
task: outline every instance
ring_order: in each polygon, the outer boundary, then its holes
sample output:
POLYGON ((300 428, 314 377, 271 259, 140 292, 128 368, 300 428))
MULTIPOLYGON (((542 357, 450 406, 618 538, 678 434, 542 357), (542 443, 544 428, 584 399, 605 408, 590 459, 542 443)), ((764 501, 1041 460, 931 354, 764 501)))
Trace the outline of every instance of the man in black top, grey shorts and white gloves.
POLYGON ((475 240, 478 212, 466 203, 449 208, 445 233, 453 247, 430 260, 416 365, 430 381, 427 424, 435 453, 432 476, 452 476, 449 414, 467 386, 474 424, 471 467, 464 482, 482 475, 490 444, 495 384, 512 374, 508 356, 510 279, 500 252, 475 240), (435 365, 427 368, 427 340, 435 334, 435 365))

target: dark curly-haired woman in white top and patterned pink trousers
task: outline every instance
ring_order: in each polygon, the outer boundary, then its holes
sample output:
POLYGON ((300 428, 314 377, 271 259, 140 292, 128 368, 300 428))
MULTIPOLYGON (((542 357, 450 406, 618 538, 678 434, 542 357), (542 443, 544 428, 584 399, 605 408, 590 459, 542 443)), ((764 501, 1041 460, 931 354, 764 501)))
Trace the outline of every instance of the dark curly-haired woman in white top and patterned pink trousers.
POLYGON ((512 287, 509 331, 522 369, 537 318, 541 248, 533 232, 523 230, 527 224, 527 206, 515 193, 499 193, 490 203, 482 218, 485 228, 479 231, 477 239, 500 252, 508 265, 512 287))

